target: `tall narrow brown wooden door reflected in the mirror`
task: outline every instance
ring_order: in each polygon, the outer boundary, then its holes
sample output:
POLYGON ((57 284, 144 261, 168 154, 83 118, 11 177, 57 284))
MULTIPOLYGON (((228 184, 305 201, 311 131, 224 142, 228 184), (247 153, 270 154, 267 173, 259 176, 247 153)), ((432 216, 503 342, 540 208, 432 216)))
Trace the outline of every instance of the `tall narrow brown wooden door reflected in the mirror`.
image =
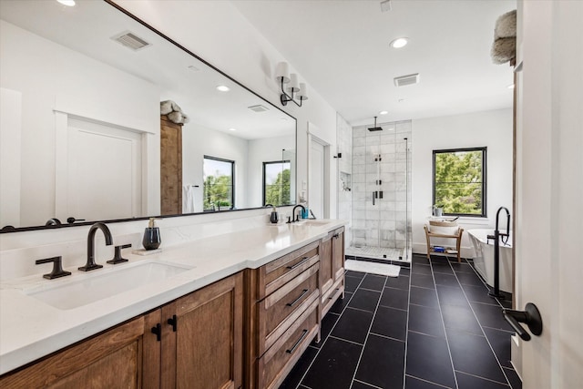
POLYGON ((166 115, 160 115, 160 207, 162 215, 182 213, 182 124, 166 115))

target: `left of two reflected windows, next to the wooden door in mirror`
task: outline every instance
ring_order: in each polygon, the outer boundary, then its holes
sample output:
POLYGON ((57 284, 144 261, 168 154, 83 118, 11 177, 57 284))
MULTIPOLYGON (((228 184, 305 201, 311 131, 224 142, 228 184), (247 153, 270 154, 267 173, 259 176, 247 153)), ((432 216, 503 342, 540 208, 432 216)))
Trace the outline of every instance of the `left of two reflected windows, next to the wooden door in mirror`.
POLYGON ((235 208, 235 161, 204 156, 204 210, 235 208))

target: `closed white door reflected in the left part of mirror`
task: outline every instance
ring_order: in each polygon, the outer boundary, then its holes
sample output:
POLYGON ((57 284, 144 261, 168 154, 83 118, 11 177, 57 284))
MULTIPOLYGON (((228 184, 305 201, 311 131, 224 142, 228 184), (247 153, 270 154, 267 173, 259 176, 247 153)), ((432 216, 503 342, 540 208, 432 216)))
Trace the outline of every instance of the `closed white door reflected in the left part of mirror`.
POLYGON ((140 134, 68 118, 66 156, 63 220, 141 216, 140 134))

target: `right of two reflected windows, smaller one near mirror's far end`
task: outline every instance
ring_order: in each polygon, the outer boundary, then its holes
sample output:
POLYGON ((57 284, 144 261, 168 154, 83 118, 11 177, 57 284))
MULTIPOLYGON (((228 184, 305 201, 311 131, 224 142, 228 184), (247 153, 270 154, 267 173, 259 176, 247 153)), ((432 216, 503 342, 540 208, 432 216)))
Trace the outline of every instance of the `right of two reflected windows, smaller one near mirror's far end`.
POLYGON ((263 204, 290 204, 290 160, 263 162, 263 204))

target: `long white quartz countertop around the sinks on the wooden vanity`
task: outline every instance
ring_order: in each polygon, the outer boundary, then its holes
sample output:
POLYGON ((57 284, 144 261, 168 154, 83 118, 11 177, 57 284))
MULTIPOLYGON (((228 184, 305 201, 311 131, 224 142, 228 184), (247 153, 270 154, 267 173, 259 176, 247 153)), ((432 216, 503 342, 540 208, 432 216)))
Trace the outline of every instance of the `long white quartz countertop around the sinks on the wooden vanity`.
MULTIPOLYGON (((251 230, 160 247, 141 256, 126 253, 129 261, 104 264, 96 271, 73 271, 68 277, 46 280, 41 274, 0 284, 0 374, 77 343, 120 322, 194 292, 247 268, 256 269, 282 255, 342 227, 345 220, 318 220, 318 224, 268 225, 251 230), (97 299, 71 309, 59 309, 31 295, 138 263, 171 263, 187 268, 179 274, 97 299)), ((128 250, 129 251, 129 250, 128 250)), ((124 268, 126 267, 126 268, 124 268)), ((67 269, 70 270, 70 269, 67 269)))

